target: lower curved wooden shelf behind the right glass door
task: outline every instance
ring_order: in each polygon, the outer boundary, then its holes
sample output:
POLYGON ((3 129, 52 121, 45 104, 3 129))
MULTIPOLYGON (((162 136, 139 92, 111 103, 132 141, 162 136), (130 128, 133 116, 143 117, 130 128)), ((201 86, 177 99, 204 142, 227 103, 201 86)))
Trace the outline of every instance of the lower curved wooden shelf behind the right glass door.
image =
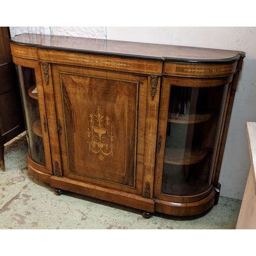
POLYGON ((210 151, 210 147, 194 147, 190 152, 173 148, 165 149, 164 162, 170 164, 187 165, 202 161, 210 151), (187 157, 186 157, 187 155, 187 157), (169 157, 172 156, 172 157, 169 157))

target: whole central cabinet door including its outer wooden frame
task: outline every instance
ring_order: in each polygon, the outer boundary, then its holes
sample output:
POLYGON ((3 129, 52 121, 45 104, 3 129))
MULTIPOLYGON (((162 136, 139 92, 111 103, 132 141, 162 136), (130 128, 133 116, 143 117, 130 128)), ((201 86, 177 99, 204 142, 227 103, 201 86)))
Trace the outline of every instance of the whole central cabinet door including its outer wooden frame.
POLYGON ((52 76, 63 176, 141 193, 137 120, 146 77, 60 65, 52 65, 52 76))

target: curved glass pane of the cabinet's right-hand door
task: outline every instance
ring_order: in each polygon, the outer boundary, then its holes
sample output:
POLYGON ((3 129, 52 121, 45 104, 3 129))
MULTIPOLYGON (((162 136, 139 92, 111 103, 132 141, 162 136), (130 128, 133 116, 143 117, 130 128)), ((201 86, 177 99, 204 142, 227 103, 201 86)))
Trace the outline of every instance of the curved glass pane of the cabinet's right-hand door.
POLYGON ((209 188, 228 84, 211 88, 171 86, 162 193, 200 194, 209 188))

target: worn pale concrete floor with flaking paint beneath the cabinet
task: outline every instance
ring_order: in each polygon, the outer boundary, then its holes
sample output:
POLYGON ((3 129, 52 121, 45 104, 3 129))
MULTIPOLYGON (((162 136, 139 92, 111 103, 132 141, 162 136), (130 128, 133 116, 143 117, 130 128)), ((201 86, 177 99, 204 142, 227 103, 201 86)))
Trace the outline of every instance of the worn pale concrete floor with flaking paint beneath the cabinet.
POLYGON ((0 229, 234 229, 241 201, 220 197, 206 214, 174 217, 54 188, 28 174, 26 135, 5 145, 6 172, 0 171, 0 229))

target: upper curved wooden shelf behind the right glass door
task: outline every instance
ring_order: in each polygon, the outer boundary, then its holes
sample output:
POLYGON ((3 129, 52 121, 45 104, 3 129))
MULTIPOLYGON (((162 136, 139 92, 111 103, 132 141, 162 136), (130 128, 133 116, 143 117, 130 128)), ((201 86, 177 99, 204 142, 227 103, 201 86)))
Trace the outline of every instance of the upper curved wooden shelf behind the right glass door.
POLYGON ((180 115, 179 117, 176 117, 175 113, 169 113, 167 120, 171 123, 201 123, 209 120, 213 114, 214 111, 210 110, 206 113, 180 115))

